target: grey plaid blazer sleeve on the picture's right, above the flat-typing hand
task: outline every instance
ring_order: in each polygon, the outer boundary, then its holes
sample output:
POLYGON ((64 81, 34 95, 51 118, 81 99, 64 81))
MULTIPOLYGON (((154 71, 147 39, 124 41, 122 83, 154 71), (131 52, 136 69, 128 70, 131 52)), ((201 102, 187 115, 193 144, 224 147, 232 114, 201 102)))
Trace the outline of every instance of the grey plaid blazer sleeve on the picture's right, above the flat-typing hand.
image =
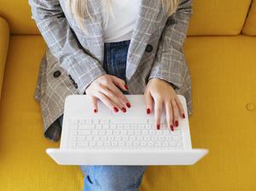
POLYGON ((185 75, 189 73, 183 54, 183 43, 192 14, 191 7, 192 0, 182 0, 177 6, 177 11, 168 17, 148 80, 164 79, 174 89, 179 89, 183 84, 185 75))

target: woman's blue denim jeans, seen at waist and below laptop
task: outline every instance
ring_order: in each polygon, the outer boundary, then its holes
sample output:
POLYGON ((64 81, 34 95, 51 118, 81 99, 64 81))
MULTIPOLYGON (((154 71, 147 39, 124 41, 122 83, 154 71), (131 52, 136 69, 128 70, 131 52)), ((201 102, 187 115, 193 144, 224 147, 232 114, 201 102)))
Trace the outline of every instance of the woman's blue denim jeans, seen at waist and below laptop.
MULTIPOLYGON (((103 68, 108 74, 125 80, 129 44, 130 40, 104 44, 103 68)), ((127 94, 125 90, 121 91, 127 94)), ((59 119, 61 126, 62 117, 59 119)), ((83 191, 137 191, 147 165, 80 165, 80 167, 84 174, 83 191)))

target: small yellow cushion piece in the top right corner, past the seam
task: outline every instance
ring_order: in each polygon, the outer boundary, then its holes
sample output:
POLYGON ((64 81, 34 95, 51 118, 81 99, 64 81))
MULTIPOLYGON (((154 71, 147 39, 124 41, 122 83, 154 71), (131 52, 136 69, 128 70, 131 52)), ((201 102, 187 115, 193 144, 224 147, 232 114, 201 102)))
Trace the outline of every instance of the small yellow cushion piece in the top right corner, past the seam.
POLYGON ((256 36, 256 0, 253 0, 247 21, 242 29, 242 33, 256 36))

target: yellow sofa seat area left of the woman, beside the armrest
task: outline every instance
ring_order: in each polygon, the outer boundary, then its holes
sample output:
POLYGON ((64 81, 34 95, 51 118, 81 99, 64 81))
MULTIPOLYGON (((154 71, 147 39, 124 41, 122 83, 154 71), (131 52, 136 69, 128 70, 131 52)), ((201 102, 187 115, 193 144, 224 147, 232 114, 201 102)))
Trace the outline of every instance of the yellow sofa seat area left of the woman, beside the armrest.
POLYGON ((38 35, 10 38, 0 108, 0 190, 82 189, 77 166, 56 165, 44 152, 59 147, 44 138, 40 107, 32 98, 44 49, 38 35))

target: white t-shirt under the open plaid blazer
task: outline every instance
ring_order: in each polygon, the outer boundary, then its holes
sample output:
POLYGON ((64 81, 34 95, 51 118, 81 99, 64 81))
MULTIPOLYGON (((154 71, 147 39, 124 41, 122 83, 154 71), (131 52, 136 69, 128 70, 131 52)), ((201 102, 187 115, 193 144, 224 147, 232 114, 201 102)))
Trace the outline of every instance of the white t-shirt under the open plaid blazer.
POLYGON ((112 0, 112 2, 114 18, 112 14, 109 14, 107 26, 105 26, 106 20, 103 18, 104 41, 109 43, 130 40, 141 0, 112 0))

